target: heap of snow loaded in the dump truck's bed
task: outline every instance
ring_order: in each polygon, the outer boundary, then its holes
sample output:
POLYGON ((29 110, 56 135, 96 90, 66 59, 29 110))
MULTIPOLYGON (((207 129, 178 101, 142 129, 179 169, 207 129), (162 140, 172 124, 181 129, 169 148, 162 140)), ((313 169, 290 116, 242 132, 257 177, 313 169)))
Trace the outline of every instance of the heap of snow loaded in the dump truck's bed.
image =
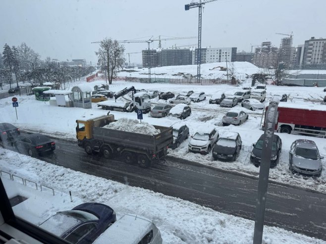
POLYGON ((149 123, 143 122, 140 124, 137 119, 127 118, 121 118, 118 121, 112 122, 109 125, 104 126, 103 128, 145 134, 149 136, 154 136, 161 133, 160 130, 155 129, 155 127, 153 125, 150 125, 149 123))

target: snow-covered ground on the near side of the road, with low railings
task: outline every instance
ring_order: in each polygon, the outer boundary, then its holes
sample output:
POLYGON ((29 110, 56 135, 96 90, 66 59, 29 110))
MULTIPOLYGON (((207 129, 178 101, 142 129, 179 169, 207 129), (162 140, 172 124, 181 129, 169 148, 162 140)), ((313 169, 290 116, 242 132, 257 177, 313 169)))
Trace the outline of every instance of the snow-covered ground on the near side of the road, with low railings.
MULTIPOLYGON (((39 225, 57 211, 73 208, 82 202, 96 201, 112 207, 117 219, 134 213, 151 219, 162 233, 164 244, 248 244, 253 241, 254 221, 213 211, 176 197, 76 172, 0 148, 0 169, 54 188, 36 190, 35 184, 21 184, 17 177, 9 180, 3 173, 8 196, 22 195, 27 200, 13 207, 14 213, 39 225), (13 160, 14 159, 14 160, 13 160), (73 201, 70 201, 69 191, 73 201), (42 202, 42 204, 40 204, 42 202)), ((264 228, 264 244, 325 244, 315 238, 264 228)))

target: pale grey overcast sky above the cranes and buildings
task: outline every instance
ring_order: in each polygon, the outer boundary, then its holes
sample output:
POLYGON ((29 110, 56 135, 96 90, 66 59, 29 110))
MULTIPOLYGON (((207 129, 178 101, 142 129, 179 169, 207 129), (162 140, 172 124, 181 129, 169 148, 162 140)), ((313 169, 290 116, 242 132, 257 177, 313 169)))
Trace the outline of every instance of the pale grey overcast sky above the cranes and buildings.
MULTIPOLYGON (((59 60, 85 58, 97 62, 95 51, 105 37, 141 40, 161 36, 198 35, 198 8, 184 10, 191 0, 3 0, 0 47, 25 42, 59 60)), ((279 46, 293 32, 294 46, 315 36, 326 38, 326 0, 217 0, 205 4, 202 47, 237 47, 268 39, 279 46)), ((163 41, 162 47, 196 44, 197 39, 163 41)), ((157 48, 158 42, 151 44, 157 48)), ((147 43, 125 44, 126 52, 147 49, 147 43)), ((127 56, 126 56, 127 57, 127 56)), ((141 54, 130 54, 141 62, 141 54)))

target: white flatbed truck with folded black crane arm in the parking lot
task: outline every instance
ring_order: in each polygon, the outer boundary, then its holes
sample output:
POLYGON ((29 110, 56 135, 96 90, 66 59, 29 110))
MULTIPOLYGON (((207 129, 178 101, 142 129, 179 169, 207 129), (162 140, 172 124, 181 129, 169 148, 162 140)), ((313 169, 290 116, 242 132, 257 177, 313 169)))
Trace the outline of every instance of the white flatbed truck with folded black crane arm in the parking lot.
POLYGON ((106 100, 98 102, 98 106, 102 106, 102 109, 105 110, 114 110, 121 112, 132 112, 137 109, 143 110, 143 113, 151 111, 151 98, 148 93, 141 92, 136 93, 136 89, 132 86, 129 88, 124 88, 123 90, 115 93, 113 100, 106 100), (116 101, 117 98, 120 98, 128 93, 132 93, 131 101, 116 101))

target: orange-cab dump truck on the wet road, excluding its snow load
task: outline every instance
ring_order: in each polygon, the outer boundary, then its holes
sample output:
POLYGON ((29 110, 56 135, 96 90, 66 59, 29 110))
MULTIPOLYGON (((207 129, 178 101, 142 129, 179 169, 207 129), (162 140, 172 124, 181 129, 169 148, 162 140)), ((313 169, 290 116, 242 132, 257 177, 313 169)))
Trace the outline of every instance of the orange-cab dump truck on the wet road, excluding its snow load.
POLYGON ((167 154, 168 145, 173 142, 172 127, 155 125, 161 132, 152 136, 104 127, 115 121, 112 114, 77 119, 78 146, 87 154, 100 153, 107 159, 120 155, 128 164, 137 162, 140 167, 149 168, 167 154))

